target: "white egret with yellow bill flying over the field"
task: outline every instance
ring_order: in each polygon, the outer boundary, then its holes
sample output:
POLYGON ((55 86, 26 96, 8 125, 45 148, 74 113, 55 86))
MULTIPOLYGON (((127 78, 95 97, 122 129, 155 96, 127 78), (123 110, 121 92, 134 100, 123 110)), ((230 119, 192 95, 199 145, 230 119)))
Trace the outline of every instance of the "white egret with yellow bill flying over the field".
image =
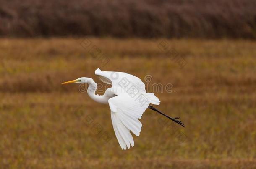
POLYGON ((141 119, 147 108, 185 127, 178 120, 180 117, 172 118, 149 105, 150 103, 159 105, 160 101, 154 93, 146 93, 145 84, 140 78, 124 72, 101 71, 99 68, 95 74, 102 82, 112 85, 112 87, 107 88, 104 95, 95 94, 97 83, 92 78, 82 77, 62 84, 88 83, 87 93, 89 97, 98 103, 109 104, 115 136, 123 150, 134 146, 130 131, 139 136, 142 124, 138 119, 141 119))

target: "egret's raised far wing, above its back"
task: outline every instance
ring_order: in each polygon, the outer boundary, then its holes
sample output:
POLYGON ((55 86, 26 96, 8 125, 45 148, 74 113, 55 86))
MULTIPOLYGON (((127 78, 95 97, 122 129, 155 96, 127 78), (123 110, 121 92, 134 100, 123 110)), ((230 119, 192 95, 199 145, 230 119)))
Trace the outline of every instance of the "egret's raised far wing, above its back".
POLYGON ((136 76, 124 72, 101 71, 99 68, 95 71, 99 80, 103 83, 111 84, 112 87, 130 88, 133 86, 139 92, 146 92, 145 84, 136 76))

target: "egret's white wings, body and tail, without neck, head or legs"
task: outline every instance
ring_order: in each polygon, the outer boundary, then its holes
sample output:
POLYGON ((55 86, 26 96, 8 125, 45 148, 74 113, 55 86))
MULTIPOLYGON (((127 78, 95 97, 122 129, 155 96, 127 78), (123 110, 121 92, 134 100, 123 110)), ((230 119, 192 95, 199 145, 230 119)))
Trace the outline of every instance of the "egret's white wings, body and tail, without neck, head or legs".
POLYGON ((154 93, 146 93, 145 84, 136 76, 124 72, 101 71, 99 68, 95 74, 102 82, 112 84, 113 92, 117 95, 108 100, 112 124, 121 148, 129 149, 130 144, 134 146, 130 131, 139 136, 142 124, 138 119, 141 119, 149 103, 158 105, 160 101, 154 93), (131 88, 135 89, 135 93, 130 93, 131 88), (140 96, 145 99, 142 103, 138 100, 140 96))

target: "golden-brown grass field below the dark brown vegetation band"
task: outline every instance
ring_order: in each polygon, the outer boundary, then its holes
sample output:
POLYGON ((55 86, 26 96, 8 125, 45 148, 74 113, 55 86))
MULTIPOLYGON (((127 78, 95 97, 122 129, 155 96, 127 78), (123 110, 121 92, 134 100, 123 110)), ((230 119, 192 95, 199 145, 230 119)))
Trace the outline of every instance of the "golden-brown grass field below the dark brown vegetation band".
POLYGON ((89 38, 110 59, 105 66, 81 40, 0 40, 1 168, 256 168, 255 41, 165 40, 187 61, 180 69, 158 48, 162 40, 89 38), (146 86, 172 83, 172 93, 155 92, 157 108, 186 127, 146 110, 135 146, 123 151, 108 105, 60 85, 100 83, 97 68, 151 75, 146 86))

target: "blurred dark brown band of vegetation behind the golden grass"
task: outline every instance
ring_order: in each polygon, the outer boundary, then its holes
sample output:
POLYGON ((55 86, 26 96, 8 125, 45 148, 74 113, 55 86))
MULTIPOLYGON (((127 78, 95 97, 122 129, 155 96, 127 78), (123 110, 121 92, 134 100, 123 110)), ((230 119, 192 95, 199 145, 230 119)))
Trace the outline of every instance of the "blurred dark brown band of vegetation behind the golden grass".
POLYGON ((0 0, 0 36, 256 39, 255 0, 0 0))

